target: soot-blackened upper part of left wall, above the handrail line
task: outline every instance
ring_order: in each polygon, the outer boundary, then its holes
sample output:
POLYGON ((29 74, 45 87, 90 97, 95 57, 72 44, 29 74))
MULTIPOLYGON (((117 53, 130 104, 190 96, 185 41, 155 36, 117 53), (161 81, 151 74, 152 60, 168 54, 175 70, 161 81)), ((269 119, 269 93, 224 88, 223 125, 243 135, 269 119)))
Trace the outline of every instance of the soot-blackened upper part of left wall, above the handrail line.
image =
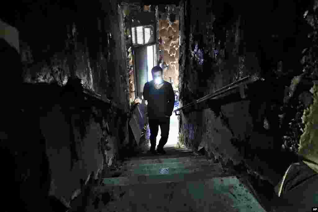
POLYGON ((24 82, 65 85, 68 78, 79 77, 86 88, 116 100, 128 111, 126 46, 115 2, 47 0, 21 3, 19 8, 15 26, 24 82), (94 15, 86 15, 87 11, 94 15), (45 24, 34 24, 39 19, 45 24))

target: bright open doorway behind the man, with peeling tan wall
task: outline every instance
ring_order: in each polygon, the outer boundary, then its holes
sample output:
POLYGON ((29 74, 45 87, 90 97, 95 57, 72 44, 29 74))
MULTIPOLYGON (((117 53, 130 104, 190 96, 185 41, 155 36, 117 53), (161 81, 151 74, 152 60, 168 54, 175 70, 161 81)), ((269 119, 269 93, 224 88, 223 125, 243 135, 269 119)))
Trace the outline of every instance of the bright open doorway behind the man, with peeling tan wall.
MULTIPOLYGON (((152 13, 152 12, 150 12, 152 13)), ((147 15, 150 15, 147 12, 147 15)), ((154 24, 154 42, 147 43, 146 27, 132 27, 132 40, 136 45, 134 48, 135 70, 136 70, 136 90, 138 96, 142 97, 144 84, 152 80, 151 69, 159 65, 163 70, 163 79, 171 83, 175 93, 175 109, 178 108, 178 75, 179 75, 179 7, 167 5, 167 7, 158 6, 157 15, 154 24), (175 15, 173 15, 175 14, 175 15), (142 31, 143 30, 143 31, 142 31), (138 33, 140 31, 140 33, 138 33), (141 33, 141 31, 143 33, 141 33)), ((140 15, 140 24, 145 24, 150 20, 140 15)), ((155 13, 153 13, 155 16, 155 13)), ((149 23, 148 23, 149 24, 149 23)), ((152 35, 152 33, 150 33, 152 35)), ((148 129, 149 133, 149 129, 148 129)), ((148 134, 146 133, 146 134, 148 134)), ((177 145, 179 136, 178 116, 173 113, 170 116, 170 130, 167 146, 177 145)), ((147 139, 148 136, 146 136, 147 139)), ((161 129, 159 127, 157 141, 161 138, 161 129)))

